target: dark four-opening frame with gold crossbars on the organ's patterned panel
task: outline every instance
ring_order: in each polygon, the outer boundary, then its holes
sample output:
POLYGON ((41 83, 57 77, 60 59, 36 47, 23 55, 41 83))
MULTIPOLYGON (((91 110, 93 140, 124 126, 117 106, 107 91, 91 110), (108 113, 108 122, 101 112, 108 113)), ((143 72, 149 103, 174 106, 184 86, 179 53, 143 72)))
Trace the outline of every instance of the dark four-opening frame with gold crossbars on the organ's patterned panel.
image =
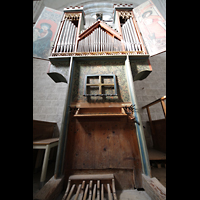
POLYGON ((85 76, 85 88, 83 96, 117 96, 117 84, 116 84, 116 76, 113 74, 99 74, 99 75, 86 75, 85 76), (89 84, 87 80, 89 77, 99 77, 99 83, 97 84, 89 84), (112 77, 114 80, 114 84, 104 84, 102 83, 101 77, 112 77), (87 87, 90 86, 98 86, 99 87, 99 94, 87 94, 87 87), (102 87, 103 86, 110 86, 114 87, 114 94, 102 94, 102 87))

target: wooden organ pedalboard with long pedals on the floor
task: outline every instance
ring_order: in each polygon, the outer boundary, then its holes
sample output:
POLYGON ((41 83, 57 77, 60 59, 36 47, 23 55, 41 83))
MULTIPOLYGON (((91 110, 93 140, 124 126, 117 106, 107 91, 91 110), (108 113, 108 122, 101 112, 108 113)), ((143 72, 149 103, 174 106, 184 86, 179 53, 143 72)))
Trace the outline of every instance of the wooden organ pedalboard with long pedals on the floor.
POLYGON ((117 200, 113 174, 71 175, 62 200, 117 200), (104 196, 104 191, 107 195, 104 196))

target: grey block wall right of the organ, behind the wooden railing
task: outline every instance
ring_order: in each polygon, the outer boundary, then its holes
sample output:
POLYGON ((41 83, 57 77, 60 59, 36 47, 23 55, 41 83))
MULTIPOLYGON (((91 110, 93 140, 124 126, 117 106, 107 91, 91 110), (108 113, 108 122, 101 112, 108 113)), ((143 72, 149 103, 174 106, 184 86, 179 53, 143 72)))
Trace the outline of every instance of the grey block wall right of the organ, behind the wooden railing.
MULTIPOLYGON (((166 95, 166 53, 150 57, 150 63, 152 72, 144 80, 135 81, 134 87, 142 124, 145 126, 144 134, 147 146, 153 147, 150 127, 147 123, 149 118, 146 109, 142 109, 142 107, 166 95)), ((149 109, 152 120, 164 119, 160 103, 149 107, 149 109)))

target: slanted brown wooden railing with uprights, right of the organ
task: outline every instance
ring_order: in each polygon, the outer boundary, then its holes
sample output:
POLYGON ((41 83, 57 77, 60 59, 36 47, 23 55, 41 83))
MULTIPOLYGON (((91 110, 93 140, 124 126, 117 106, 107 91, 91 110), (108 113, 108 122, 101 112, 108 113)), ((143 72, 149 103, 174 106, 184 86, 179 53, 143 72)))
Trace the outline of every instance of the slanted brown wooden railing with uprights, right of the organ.
POLYGON ((152 134, 154 134, 155 131, 154 131, 154 128, 153 128, 149 107, 160 102, 161 106, 162 106, 162 109, 163 109, 163 113, 164 113, 165 119, 166 119, 166 105, 165 105, 165 102, 164 102, 165 99, 166 99, 166 96, 163 96, 163 97, 161 97, 161 98, 159 98, 159 99, 147 104, 146 106, 142 107, 142 109, 144 109, 144 108, 147 109, 147 114, 148 114, 148 117, 149 117, 149 123, 150 123, 150 128, 151 128, 152 134))

